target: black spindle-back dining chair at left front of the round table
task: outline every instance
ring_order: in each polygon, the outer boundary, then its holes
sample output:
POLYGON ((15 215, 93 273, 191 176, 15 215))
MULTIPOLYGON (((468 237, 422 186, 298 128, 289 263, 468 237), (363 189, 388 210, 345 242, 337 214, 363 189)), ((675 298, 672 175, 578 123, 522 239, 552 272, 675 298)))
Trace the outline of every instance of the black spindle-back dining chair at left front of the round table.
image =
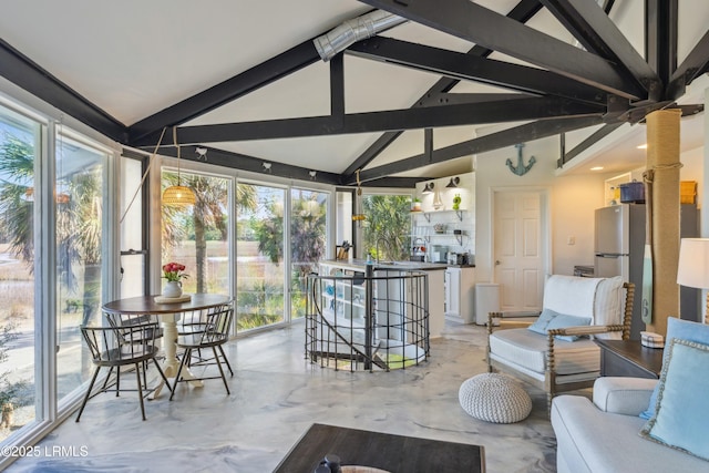
MULTIPOLYGON (((86 394, 76 414, 76 422, 81 419, 81 414, 86 407, 86 402, 92 398, 93 385, 99 378, 99 372, 102 368, 109 368, 103 387, 99 392, 107 392, 115 390, 115 395, 119 397, 121 389, 121 369, 126 366, 135 367, 136 377, 136 390, 138 393, 138 400, 141 402, 141 413, 143 420, 145 420, 145 405, 143 402, 144 391, 147 395, 151 390, 147 388, 147 363, 153 361, 157 372, 162 377, 165 384, 172 391, 167 378, 163 372, 160 363, 156 362, 156 354, 158 347, 155 345, 155 339, 158 333, 157 322, 144 322, 133 323, 125 326, 106 327, 81 327, 81 333, 91 351, 91 361, 95 366, 93 377, 86 389, 86 394), (111 374, 115 370, 115 387, 110 388, 111 374), (141 373, 143 379, 141 379, 141 373), (145 384, 145 385, 144 385, 145 384)), ((123 389, 123 391, 134 391, 135 389, 123 389)), ((96 393, 97 394, 97 393, 96 393)), ((94 394, 95 395, 95 394, 94 394)))

